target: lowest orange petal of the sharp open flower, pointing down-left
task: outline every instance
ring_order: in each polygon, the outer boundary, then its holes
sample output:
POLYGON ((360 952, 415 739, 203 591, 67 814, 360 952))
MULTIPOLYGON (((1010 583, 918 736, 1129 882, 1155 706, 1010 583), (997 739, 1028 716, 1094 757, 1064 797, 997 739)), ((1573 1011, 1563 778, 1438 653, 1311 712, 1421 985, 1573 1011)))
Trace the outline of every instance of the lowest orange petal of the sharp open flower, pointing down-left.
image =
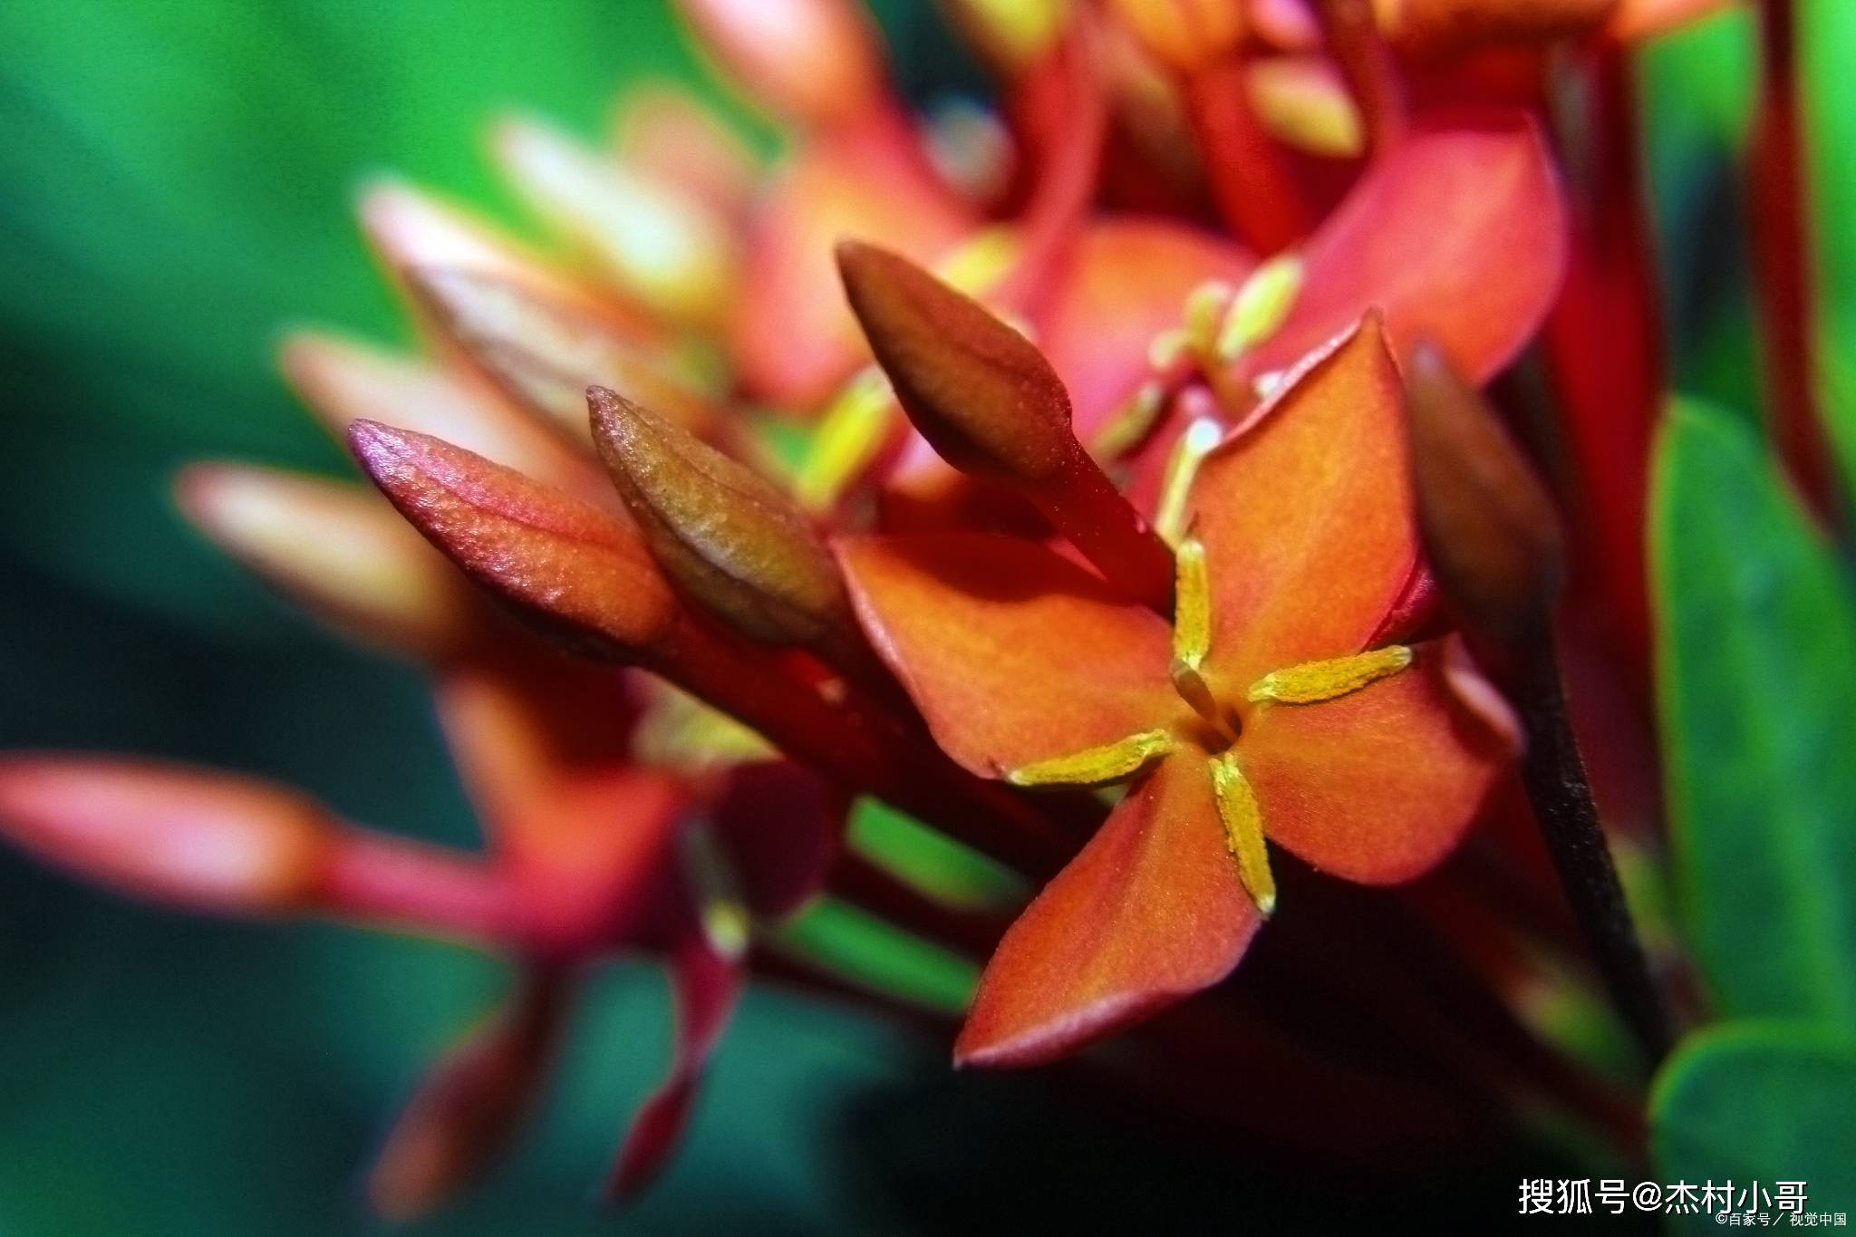
POLYGON ((1160 762, 1006 931, 960 1065, 1038 1065, 1223 979, 1262 914, 1197 755, 1160 762))

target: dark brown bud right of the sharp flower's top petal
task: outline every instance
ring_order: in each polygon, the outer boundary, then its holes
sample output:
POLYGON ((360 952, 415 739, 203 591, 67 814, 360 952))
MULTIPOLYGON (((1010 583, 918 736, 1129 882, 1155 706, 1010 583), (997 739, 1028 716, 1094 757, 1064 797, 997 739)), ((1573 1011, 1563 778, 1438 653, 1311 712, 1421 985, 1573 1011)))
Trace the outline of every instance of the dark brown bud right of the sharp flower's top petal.
POLYGON ((1427 341, 1411 351, 1405 395, 1418 525, 1438 590, 1476 634, 1540 636, 1565 569, 1552 499, 1494 410, 1427 341))

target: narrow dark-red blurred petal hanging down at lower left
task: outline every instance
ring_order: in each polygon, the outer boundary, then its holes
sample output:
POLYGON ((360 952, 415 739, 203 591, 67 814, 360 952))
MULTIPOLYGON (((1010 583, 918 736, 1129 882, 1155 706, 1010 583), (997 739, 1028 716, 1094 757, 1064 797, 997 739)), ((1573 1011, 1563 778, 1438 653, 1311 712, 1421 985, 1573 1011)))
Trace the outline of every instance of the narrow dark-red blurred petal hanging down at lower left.
POLYGON ((728 1026, 744 977, 739 959, 716 953, 702 938, 690 938, 670 959, 670 987, 677 1003, 676 1055, 670 1076, 631 1118, 607 1183, 612 1196, 635 1194, 670 1157, 689 1122, 696 1083, 728 1026))

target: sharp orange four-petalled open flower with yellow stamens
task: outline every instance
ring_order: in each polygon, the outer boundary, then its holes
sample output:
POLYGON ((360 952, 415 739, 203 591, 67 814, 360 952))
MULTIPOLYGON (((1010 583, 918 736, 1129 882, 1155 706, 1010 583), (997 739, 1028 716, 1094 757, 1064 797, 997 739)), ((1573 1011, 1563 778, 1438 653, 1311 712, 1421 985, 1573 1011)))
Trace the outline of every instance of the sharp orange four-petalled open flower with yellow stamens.
POLYGON ((1030 542, 843 542, 956 760, 1130 784, 1000 942, 958 1059, 1045 1061, 1221 979, 1275 905, 1266 840, 1383 885, 1474 820, 1511 723, 1450 642, 1394 644, 1422 575, 1401 417, 1368 319, 1205 458, 1171 629, 1030 542))

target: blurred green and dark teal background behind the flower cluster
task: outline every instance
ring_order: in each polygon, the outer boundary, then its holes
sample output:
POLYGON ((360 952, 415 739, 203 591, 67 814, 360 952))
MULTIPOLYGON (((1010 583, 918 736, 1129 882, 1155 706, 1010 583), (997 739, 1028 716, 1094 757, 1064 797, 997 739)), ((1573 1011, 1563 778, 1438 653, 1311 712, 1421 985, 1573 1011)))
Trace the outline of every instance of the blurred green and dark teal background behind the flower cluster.
MULTIPOLYGON (((1819 82, 1856 48, 1852 9, 1813 7, 1819 82)), ((973 80, 930 6, 882 17, 911 93, 973 80)), ((1741 217, 1745 48, 1743 17, 1715 20, 1657 48, 1646 80, 1678 373, 1750 412, 1741 260, 1722 243, 1741 217)), ((167 478, 199 456, 340 467, 271 349, 303 321, 401 334, 354 185, 392 169, 514 221, 484 119, 522 106, 592 135, 640 76, 703 83, 657 0, 0 6, 0 747, 252 770, 356 820, 471 842, 418 679, 219 560, 167 478)), ((1837 147, 1856 111, 1817 117, 1821 148, 1856 148, 1837 147)), ((1819 180, 1821 217, 1849 217, 1856 161, 1821 159, 1819 180)), ((1856 234, 1828 232, 1834 287, 1856 287, 1856 234)), ((1852 306, 1836 297, 1832 321, 1852 306)), ((440 946, 186 920, 0 851, 0 1237, 367 1230, 367 1148, 499 987, 440 946)), ((1245 1187, 1138 1118, 1065 1120, 1036 1078, 948 1079, 943 1044, 757 992, 666 1181, 601 1217, 590 1183, 661 1066, 666 1018, 650 970, 601 983, 535 1137, 425 1230, 1134 1228, 1156 1196, 1234 1220, 1268 1176, 1253 1165, 1245 1187)), ((1524 1170, 1542 1168, 1492 1170, 1494 1198, 1401 1180, 1386 1222, 1505 1215, 1524 1170)), ((1340 1200, 1299 1205, 1320 1230, 1340 1200)))

